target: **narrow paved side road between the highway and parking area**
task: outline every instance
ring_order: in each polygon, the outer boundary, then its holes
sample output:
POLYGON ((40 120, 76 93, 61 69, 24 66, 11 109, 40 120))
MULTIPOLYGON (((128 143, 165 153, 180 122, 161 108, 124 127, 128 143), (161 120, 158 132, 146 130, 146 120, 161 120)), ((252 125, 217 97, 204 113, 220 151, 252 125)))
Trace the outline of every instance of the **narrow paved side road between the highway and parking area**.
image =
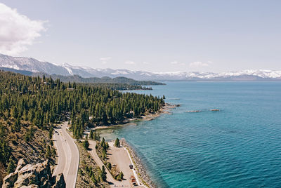
MULTIPOLYGON (((89 140, 89 144, 90 144, 89 148, 91 149, 91 150, 89 150, 89 153, 93 157, 93 160, 96 161, 98 166, 100 168, 102 168, 102 166, 105 166, 105 165, 103 164, 103 161, 101 161, 100 157, 98 156, 98 154, 96 152, 96 148, 95 148, 96 147, 96 142, 93 141, 93 140, 89 140)), ((110 187, 131 187, 128 184, 124 184, 124 182, 119 182, 119 181, 115 180, 112 177, 111 173, 107 170, 107 168, 105 168, 105 170, 106 170, 106 173, 107 173, 106 174, 106 180, 107 180, 107 182, 110 183, 110 187)))

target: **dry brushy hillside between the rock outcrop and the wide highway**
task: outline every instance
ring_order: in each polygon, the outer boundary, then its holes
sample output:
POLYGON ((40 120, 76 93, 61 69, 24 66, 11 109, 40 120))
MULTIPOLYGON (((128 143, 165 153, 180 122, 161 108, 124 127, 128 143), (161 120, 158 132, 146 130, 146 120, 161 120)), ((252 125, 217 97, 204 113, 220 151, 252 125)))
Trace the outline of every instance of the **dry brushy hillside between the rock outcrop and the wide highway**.
POLYGON ((15 109, 5 109, 3 104, 6 98, 1 97, 0 111, 0 186, 7 173, 15 170, 19 159, 25 158, 29 163, 39 163, 46 159, 55 160, 55 149, 46 128, 40 129, 34 126, 27 116, 20 118, 21 112, 15 109), (4 102, 3 102, 4 100, 4 102), (5 109, 5 110, 4 110, 5 109))

